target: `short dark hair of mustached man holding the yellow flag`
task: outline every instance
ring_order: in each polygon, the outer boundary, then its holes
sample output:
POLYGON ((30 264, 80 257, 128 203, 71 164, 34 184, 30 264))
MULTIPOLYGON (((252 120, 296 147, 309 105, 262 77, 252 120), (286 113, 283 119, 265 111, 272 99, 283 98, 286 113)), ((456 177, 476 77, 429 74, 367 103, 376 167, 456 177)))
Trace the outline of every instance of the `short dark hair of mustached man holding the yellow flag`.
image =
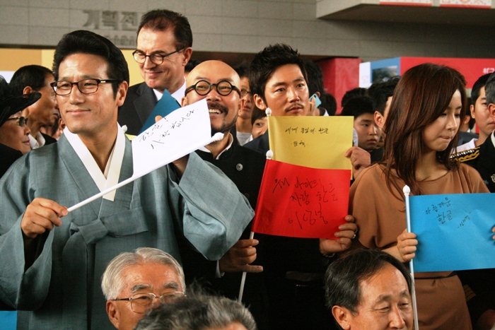
POLYGON ((301 59, 297 49, 292 49, 291 46, 285 44, 269 45, 257 53, 251 62, 249 83, 252 95, 260 95, 266 103, 264 88, 267 86, 268 79, 272 76, 273 71, 286 64, 299 66, 305 81, 308 81, 303 59, 301 59))

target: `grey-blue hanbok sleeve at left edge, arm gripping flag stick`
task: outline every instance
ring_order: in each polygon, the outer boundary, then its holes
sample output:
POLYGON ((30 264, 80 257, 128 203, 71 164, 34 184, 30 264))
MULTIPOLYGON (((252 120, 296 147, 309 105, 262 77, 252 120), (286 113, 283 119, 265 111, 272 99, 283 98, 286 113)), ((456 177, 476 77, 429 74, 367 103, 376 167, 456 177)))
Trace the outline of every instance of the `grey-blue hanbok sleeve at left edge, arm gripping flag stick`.
POLYGON ((0 300, 16 309, 36 310, 50 288, 53 234, 43 237, 45 246, 34 264, 25 270, 21 219, 32 197, 33 182, 28 158, 20 158, 14 164, 0 179, 0 300))

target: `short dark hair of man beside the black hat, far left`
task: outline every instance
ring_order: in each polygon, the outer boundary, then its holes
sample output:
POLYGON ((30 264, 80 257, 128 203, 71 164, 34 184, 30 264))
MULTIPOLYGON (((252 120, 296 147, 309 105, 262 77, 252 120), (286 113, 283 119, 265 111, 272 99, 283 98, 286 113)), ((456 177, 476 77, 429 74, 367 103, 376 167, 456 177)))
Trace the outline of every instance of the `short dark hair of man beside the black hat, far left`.
POLYGON ((11 78, 11 90, 13 95, 23 95, 23 90, 27 86, 38 92, 45 87, 47 75, 53 76, 50 69, 40 65, 26 65, 19 68, 11 78))

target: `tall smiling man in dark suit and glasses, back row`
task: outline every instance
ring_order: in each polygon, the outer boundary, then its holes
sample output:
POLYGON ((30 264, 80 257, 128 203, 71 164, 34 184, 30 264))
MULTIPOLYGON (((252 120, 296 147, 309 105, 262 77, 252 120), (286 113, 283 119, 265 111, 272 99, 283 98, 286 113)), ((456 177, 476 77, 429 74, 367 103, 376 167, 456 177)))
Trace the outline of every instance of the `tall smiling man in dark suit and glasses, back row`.
POLYGON ((192 32, 185 16, 166 9, 145 13, 133 53, 144 83, 131 86, 117 121, 137 135, 164 90, 180 104, 185 91, 185 65, 191 59, 192 32))

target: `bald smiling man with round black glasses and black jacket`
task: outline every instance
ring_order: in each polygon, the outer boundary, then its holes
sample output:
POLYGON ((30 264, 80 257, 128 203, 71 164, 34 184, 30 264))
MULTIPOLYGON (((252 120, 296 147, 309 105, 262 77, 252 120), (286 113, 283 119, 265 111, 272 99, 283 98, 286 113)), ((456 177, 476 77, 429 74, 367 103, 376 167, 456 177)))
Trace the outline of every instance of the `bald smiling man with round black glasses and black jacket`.
MULTIPOLYGON (((231 129, 235 126, 238 112, 245 102, 245 91, 241 91, 241 81, 238 74, 222 61, 204 61, 196 66, 187 76, 187 88, 182 106, 190 105, 202 99, 208 102, 211 134, 223 133, 223 139, 210 143, 200 148, 196 153, 219 167, 244 194, 252 208, 256 208, 258 191, 264 170, 264 155, 251 151, 248 148, 235 143, 231 129)), ((260 273, 262 266, 252 265, 257 257, 255 246, 258 240, 248 240, 251 226, 243 232, 243 240, 238 241, 218 264, 217 278, 220 273, 221 279, 213 278, 214 264, 210 264, 199 254, 190 252, 187 256, 182 249, 182 260, 184 261, 187 276, 209 277, 216 289, 221 290, 223 295, 235 298, 239 292, 240 276, 242 271, 250 274, 246 281, 244 302, 250 305, 252 314, 262 326, 266 319, 264 313, 267 306, 261 299, 262 279, 260 273), (206 263, 206 264, 205 264, 206 263), (206 269, 206 271, 205 271, 206 269), (211 271, 208 271, 210 269, 211 271)), ((260 261, 258 260, 257 264, 260 261)), ((187 278, 189 282, 191 278, 187 278)))

